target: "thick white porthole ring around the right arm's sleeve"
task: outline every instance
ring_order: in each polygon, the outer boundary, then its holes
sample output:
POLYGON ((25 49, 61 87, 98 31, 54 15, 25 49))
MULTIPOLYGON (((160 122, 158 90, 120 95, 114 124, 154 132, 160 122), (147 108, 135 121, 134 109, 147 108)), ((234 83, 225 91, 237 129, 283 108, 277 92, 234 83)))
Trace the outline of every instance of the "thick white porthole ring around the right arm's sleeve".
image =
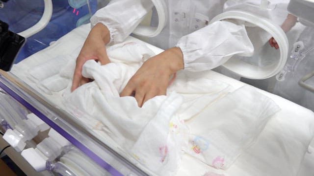
MULTIPOLYGON (((243 62, 240 59, 229 59, 223 66, 227 69, 237 73, 238 75, 250 78, 250 79, 266 79, 271 76, 276 75, 285 65, 288 55, 288 39, 284 31, 278 25, 274 25, 271 21, 255 16, 251 13, 244 11, 227 11, 224 12, 211 20, 211 22, 226 20, 226 19, 236 19, 249 23, 249 25, 255 25, 261 27, 265 31, 271 34, 280 46, 280 57, 277 59, 275 64, 270 66, 254 66, 243 62)), ((265 60, 263 57, 267 57, 267 54, 260 53, 261 60, 265 60)))

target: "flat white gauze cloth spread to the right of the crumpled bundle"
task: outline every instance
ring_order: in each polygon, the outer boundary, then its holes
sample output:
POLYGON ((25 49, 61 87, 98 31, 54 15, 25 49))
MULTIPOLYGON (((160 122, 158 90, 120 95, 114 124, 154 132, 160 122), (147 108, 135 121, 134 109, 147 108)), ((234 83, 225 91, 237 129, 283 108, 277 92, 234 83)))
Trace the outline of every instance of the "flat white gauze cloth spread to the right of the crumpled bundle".
POLYGON ((241 87, 187 122, 190 136, 186 152, 217 169, 228 169, 279 110, 254 88, 241 87))

